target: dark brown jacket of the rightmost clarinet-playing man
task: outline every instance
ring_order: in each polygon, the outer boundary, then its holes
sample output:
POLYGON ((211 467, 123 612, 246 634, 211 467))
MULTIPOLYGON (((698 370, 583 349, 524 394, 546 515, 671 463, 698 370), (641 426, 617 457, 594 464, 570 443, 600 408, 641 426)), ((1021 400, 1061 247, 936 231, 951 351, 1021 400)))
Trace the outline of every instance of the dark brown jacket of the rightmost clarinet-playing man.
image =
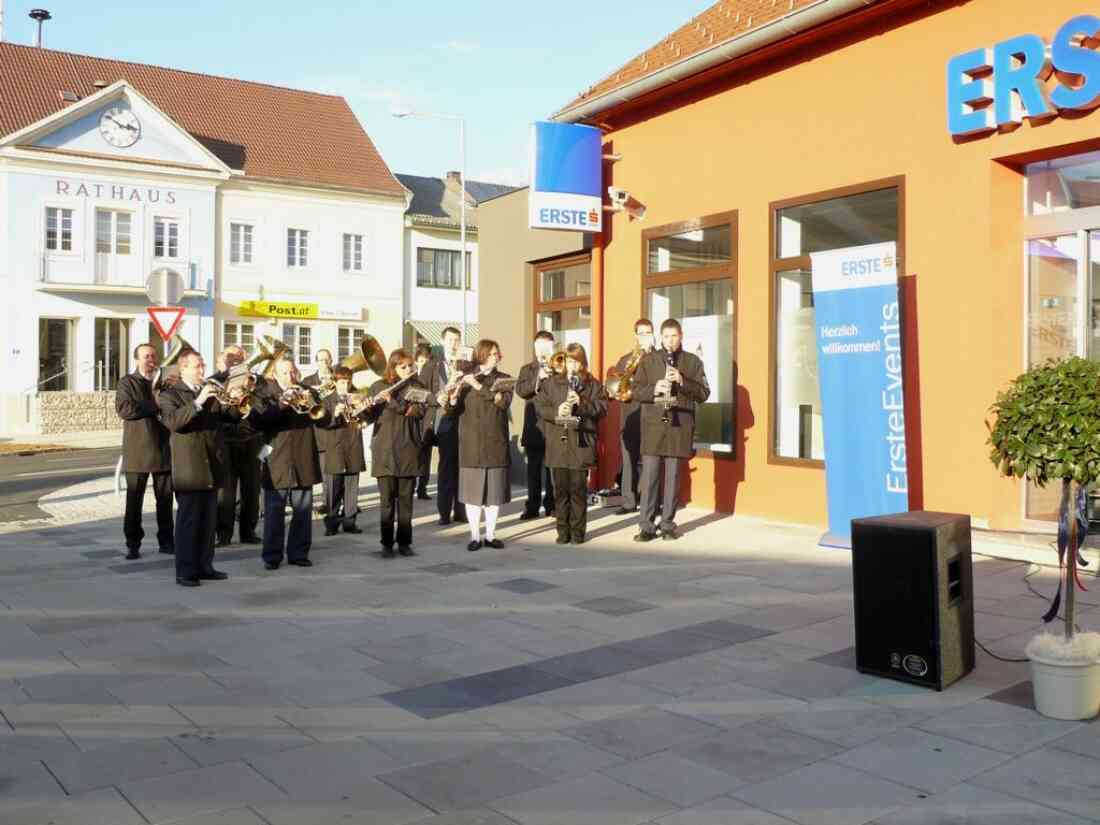
POLYGON ((711 396, 711 386, 703 373, 703 362, 696 355, 680 350, 675 365, 683 385, 675 387, 675 405, 669 409, 669 422, 661 419, 664 410, 653 403, 653 389, 664 377, 663 349, 646 355, 635 373, 634 397, 641 404, 641 454, 691 458, 695 448, 695 405, 711 396))

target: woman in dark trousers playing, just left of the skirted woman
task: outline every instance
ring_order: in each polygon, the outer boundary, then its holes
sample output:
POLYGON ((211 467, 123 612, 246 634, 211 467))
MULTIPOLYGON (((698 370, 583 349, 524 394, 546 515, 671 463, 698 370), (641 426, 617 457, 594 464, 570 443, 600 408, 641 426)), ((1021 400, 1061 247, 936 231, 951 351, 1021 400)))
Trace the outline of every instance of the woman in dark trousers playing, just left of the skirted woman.
POLYGON ((421 419, 424 404, 410 404, 405 394, 410 387, 424 388, 415 376, 416 365, 405 350, 389 353, 386 372, 371 386, 369 420, 374 424, 371 437, 371 472, 378 480, 381 497, 382 556, 394 558, 394 516, 397 517, 397 552, 416 556, 413 550, 413 490, 420 470, 421 419), (399 382, 408 383, 395 387, 399 382))

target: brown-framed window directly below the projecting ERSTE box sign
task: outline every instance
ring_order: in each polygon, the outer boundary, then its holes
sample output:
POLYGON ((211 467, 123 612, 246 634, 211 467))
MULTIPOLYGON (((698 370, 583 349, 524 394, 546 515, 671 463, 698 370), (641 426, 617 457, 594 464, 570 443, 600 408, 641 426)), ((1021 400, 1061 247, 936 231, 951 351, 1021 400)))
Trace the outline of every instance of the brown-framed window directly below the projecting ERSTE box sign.
POLYGON ((559 349, 579 343, 592 358, 592 260, 571 256, 535 268, 535 329, 552 332, 559 349))

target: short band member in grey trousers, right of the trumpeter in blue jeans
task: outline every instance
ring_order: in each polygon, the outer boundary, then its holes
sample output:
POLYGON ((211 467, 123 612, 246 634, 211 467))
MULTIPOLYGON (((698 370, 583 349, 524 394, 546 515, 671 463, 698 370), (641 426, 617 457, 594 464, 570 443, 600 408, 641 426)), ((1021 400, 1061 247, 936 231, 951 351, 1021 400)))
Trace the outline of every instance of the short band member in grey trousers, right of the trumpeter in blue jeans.
POLYGON ((323 431, 328 449, 321 455, 321 469, 328 481, 328 513, 324 516, 324 535, 336 536, 343 525, 344 532, 363 532, 355 524, 359 516, 359 474, 366 470, 363 452, 363 433, 359 427, 348 422, 344 411, 346 397, 351 392, 351 370, 338 366, 332 371, 337 388, 324 399, 329 410, 323 431))

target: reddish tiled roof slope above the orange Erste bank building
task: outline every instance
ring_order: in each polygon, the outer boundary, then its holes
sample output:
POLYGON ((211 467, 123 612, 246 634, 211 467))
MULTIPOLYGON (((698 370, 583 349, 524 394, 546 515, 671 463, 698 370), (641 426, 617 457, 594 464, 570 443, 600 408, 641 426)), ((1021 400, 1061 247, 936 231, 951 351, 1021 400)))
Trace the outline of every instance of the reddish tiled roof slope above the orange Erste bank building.
POLYGON ((690 22, 642 52, 616 72, 581 92, 558 112, 652 75, 713 46, 732 41, 765 23, 790 14, 818 0, 719 0, 690 22))

